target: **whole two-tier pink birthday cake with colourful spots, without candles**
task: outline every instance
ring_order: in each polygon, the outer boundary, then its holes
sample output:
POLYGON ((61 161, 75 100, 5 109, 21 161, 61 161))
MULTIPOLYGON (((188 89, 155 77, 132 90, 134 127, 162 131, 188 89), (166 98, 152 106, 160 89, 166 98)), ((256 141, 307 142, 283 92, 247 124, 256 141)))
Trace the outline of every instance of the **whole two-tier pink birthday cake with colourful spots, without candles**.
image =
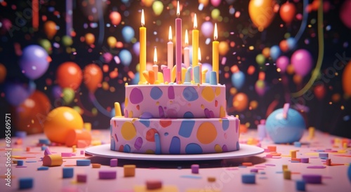
POLYGON ((111 150, 201 154, 239 150, 239 119, 225 85, 126 85, 124 116, 111 119, 111 150))

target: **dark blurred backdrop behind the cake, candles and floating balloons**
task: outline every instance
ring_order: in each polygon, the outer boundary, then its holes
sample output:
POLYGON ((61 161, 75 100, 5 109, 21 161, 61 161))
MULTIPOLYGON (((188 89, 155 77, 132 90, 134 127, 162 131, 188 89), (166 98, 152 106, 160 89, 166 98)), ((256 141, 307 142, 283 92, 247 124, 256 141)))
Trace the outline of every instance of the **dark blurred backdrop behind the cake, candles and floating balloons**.
MULTIPOLYGON (((4 87, 6 83, 10 82, 20 82, 23 85, 29 83, 28 78, 21 73, 19 67, 20 55, 15 53, 15 45, 20 46, 20 49, 32 44, 39 44, 41 39, 47 39, 46 32, 43 29, 44 20, 42 17, 45 15, 47 20, 52 20, 60 27, 55 37, 51 40, 51 45, 55 43, 59 44, 59 48, 52 47, 52 53, 50 54, 52 62, 46 73, 40 78, 34 80, 37 85, 37 90, 44 92, 51 102, 51 109, 59 107, 62 103, 69 107, 79 107, 81 109, 81 116, 84 118, 85 122, 92 123, 94 129, 107 129, 110 127, 111 116, 104 115, 100 109, 98 113, 94 114, 93 111, 96 107, 88 97, 88 90, 84 83, 81 83, 79 89, 76 92, 76 100, 70 104, 65 104, 64 102, 58 102, 52 94, 53 87, 57 84, 55 83, 56 75, 55 70, 62 64, 62 62, 72 61, 79 64, 81 69, 87 64, 96 63, 100 67, 103 64, 109 66, 109 71, 103 73, 103 80, 115 89, 114 92, 111 90, 105 90, 103 88, 98 88, 94 95, 97 98, 97 102, 102 106, 104 111, 111 111, 113 109, 114 102, 124 102, 124 83, 131 83, 132 80, 129 78, 127 72, 133 71, 135 73, 135 67, 138 64, 138 55, 133 52, 133 43, 126 43, 124 41, 123 34, 121 30, 126 26, 133 27, 135 31, 135 39, 139 39, 140 27, 140 10, 145 11, 145 20, 147 27, 147 62, 152 62, 153 47, 157 46, 159 63, 166 64, 166 42, 168 42, 168 26, 172 25, 173 35, 174 35, 174 20, 176 18, 175 11, 176 8, 170 6, 170 4, 176 3, 176 1, 161 1, 164 4, 164 10, 161 15, 157 16, 152 11, 151 6, 146 6, 141 1, 83 1, 83 0, 73 0, 73 27, 75 36, 72 37, 73 44, 69 48, 75 48, 77 55, 72 53, 67 53, 67 47, 62 44, 62 36, 65 36, 65 1, 40 1, 41 8, 39 10, 39 30, 37 32, 32 31, 32 20, 31 18, 25 18, 25 11, 30 9, 30 1, 3 1, 0 5, 0 18, 7 18, 16 25, 16 21, 21 20, 21 24, 18 30, 13 30, 13 35, 10 32, 3 32, 0 34, 0 63, 4 64, 7 69, 6 79, 0 84, 1 90, 1 114, 9 113, 13 114, 13 121, 21 121, 21 118, 16 116, 16 109, 18 107, 11 106, 6 101, 6 92, 4 87), (4 4, 6 2, 6 4, 4 4), (28 4, 29 2, 29 4, 28 4), (88 6, 84 7, 83 4, 88 6), (91 12, 92 8, 96 8, 96 4, 102 4, 102 16, 104 32, 101 34, 99 32, 100 22, 98 14, 93 14, 91 12), (56 11, 56 12, 55 12, 56 11), (117 26, 107 25, 111 23, 109 15, 111 11, 118 11, 121 14, 122 22, 117 26), (59 15, 59 16, 58 16, 59 15), (88 15, 93 15, 93 20, 88 19, 88 15), (98 27, 84 28, 84 25, 90 25, 96 22, 98 27), (159 23, 159 25, 157 24, 159 23), (157 34, 154 34, 157 32, 157 34), (84 41, 81 41, 86 33, 92 33, 95 35, 94 46, 88 46, 84 41), (100 37, 102 36, 102 37, 100 37), (107 37, 114 36, 117 41, 123 43, 122 48, 110 48, 107 45, 107 37), (101 43, 98 39, 102 38, 101 43), (112 60, 111 62, 105 62, 102 58, 104 53, 111 53, 112 55, 118 55, 122 49, 129 50, 132 54, 132 62, 126 67, 122 64, 117 64, 112 60), (109 78, 110 71, 117 68, 119 71, 119 76, 117 78, 109 78), (50 83, 50 81, 52 83, 50 83), (49 82, 49 83, 48 83, 49 82)), ((277 1, 279 5, 284 4, 286 1, 277 1)), ((297 13, 302 13, 303 1, 291 1, 296 6, 297 13)), ((350 40, 351 40, 351 29, 347 28, 343 22, 340 20, 339 11, 340 7, 343 5, 344 1, 324 1, 324 60, 322 62, 322 69, 320 73, 323 75, 327 74, 329 67, 333 67, 333 62, 338 58, 336 54, 343 55, 346 57, 351 57, 350 51, 350 40), (330 29, 326 29, 330 26, 330 29)), ((208 20, 211 22, 217 22, 219 29, 219 41, 234 42, 234 46, 230 46, 230 50, 227 52, 225 57, 227 62, 225 65, 220 64, 220 83, 227 86, 227 103, 228 111, 231 115, 239 115, 241 123, 249 125, 249 128, 256 128, 260 119, 267 118, 267 109, 272 104, 272 102, 277 101, 274 105, 274 109, 282 108, 285 102, 291 102, 291 100, 286 101, 284 95, 290 95, 291 92, 296 92, 300 90, 311 77, 311 73, 307 74, 303 78, 302 83, 296 84, 293 81, 293 75, 284 74, 289 80, 289 84, 284 86, 282 82, 278 81, 283 74, 277 72, 277 67, 274 66, 274 61, 267 59, 265 62, 266 66, 259 66, 256 62, 256 55, 260 54, 265 47, 271 47, 278 45, 280 41, 284 39, 284 34, 290 33, 291 36, 295 36, 300 28, 301 20, 294 19, 290 25, 285 25, 279 16, 279 13, 275 14, 272 23, 263 32, 252 32, 251 34, 245 34, 245 30, 252 27, 252 22, 249 16, 248 7, 249 1, 246 0, 232 0, 232 1, 220 1, 220 6, 217 8, 220 10, 220 15, 223 17, 223 21, 214 20, 211 18, 211 11, 213 7, 211 2, 207 6, 199 11, 199 1, 180 1, 183 5, 183 10, 181 17, 183 19, 183 35, 185 29, 189 31, 192 29, 192 13, 197 13, 198 24, 208 20), (235 9, 235 12, 240 12, 239 18, 229 13, 229 8, 235 9), (208 17, 206 19, 206 17, 208 17), (225 33, 230 34, 225 36, 225 33), (253 46, 253 50, 249 50, 249 46, 253 46), (233 111, 232 100, 234 95, 230 93, 230 88, 233 88, 230 77, 232 72, 228 69, 234 64, 237 64, 239 69, 244 72, 246 79, 243 88, 238 90, 238 92, 244 92, 249 97, 249 102, 257 101, 258 107, 256 109, 250 109, 246 107, 244 111, 233 111), (249 66, 252 65, 256 68, 256 71, 249 75, 246 73, 249 66), (227 67, 227 68, 226 68, 227 67), (228 68, 229 67, 229 68, 228 68), (265 72, 265 84, 267 90, 265 95, 259 96, 254 85, 258 80, 258 72, 265 72), (227 76, 225 76, 227 73, 227 76)), ((313 1, 309 1, 312 5, 313 1)), ((351 11, 351 10, 350 10, 351 11)), ((351 13, 351 12, 350 12, 351 13)), ((350 15, 351 17, 351 15, 350 15)), ((198 27, 199 29, 200 27, 198 27)), ((254 29, 254 28, 253 28, 254 29)), ((306 49, 310 51, 314 63, 312 64, 314 68, 316 66, 317 56, 318 56, 318 43, 317 34, 317 11, 311 11, 307 18, 307 27, 305 32, 301 36, 300 40, 297 42, 296 49, 306 49), (314 22, 315 21, 315 22, 314 22)), ((191 39, 191 33, 190 33, 191 39)), ((203 58, 203 63, 211 64, 211 43, 205 43, 206 37, 200 32, 200 47, 201 54, 203 58)), ((212 37, 211 37, 212 41, 212 37)), ((191 44, 191 40, 190 40, 191 44)), ((282 55, 290 57, 294 50, 289 50, 282 55)), ((220 59, 223 56, 220 56, 220 59)), ((123 58, 121 58, 123 59, 123 58)), ((348 58, 350 60, 350 58, 348 58)), ((338 66, 345 65, 343 62, 338 62, 338 66)), ((312 69, 313 70, 313 69, 312 69)), ((333 135, 340 135, 343 137, 351 138, 350 128, 350 114, 351 114, 351 100, 350 96, 347 96, 343 92, 342 87, 342 74, 343 69, 337 71, 338 75, 334 75, 330 78, 329 82, 323 82, 318 79, 318 82, 322 82, 326 92, 322 95, 321 99, 317 99, 314 96, 314 86, 310 88, 313 92, 312 100, 303 100, 300 98, 295 98, 293 101, 300 101, 303 104, 303 109, 308 109, 308 111, 303 112, 303 116, 306 119, 307 127, 314 126, 315 128, 322 130, 324 132, 329 132, 333 135), (338 100, 335 100, 339 97, 338 100), (334 98, 334 99, 333 99, 334 98)), ((61 99, 62 100, 62 99, 61 99)), ((293 107, 296 107, 296 102, 291 102, 293 107)), ((250 104, 249 104, 250 106, 250 104)), ((301 107, 296 107, 301 109, 301 107)), ((18 111, 18 110, 17 110, 18 111)), ((269 113, 268 113, 269 114, 269 113)), ((45 115, 45 114, 44 114, 45 115)), ((4 116, 4 115, 1 115, 4 116)), ((35 118, 35 116, 34 116, 35 118)), ((15 124, 15 123, 13 123, 15 124)), ((29 123, 30 124, 30 123, 29 123)), ((29 126, 30 128, 30 126, 29 126)), ((13 129, 16 127, 13 125, 13 129)), ((1 136, 3 134, 1 133, 1 136)))

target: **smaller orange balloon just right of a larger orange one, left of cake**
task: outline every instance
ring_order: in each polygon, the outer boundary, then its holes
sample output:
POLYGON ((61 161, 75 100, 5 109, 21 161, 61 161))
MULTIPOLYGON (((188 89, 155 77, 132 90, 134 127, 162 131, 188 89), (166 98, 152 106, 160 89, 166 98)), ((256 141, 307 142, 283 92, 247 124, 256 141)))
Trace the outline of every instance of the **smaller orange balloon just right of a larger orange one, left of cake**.
POLYGON ((90 92, 95 92, 102 81, 102 70, 97 64, 88 64, 83 71, 84 84, 90 92))

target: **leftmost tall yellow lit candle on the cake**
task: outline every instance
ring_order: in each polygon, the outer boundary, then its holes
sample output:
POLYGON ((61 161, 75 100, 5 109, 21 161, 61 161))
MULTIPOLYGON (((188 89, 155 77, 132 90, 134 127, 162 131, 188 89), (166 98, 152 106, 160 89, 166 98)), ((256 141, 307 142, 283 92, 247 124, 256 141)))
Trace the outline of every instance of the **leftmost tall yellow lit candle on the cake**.
POLYGON ((146 70, 146 27, 144 27, 144 25, 145 25, 145 17, 144 17, 144 10, 142 10, 141 11, 142 27, 139 28, 139 32, 140 32, 139 84, 145 83, 145 77, 142 75, 143 71, 146 70))

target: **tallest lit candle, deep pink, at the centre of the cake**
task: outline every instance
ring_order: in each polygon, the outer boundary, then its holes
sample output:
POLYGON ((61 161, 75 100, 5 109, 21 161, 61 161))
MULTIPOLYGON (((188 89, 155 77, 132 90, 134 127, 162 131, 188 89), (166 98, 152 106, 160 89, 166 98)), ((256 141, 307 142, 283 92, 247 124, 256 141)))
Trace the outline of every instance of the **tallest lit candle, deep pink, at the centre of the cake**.
MULTIPOLYGON (((177 17, 179 17, 179 1, 177 4, 177 17)), ((181 83, 182 81, 182 20, 176 18, 176 83, 181 83)))

